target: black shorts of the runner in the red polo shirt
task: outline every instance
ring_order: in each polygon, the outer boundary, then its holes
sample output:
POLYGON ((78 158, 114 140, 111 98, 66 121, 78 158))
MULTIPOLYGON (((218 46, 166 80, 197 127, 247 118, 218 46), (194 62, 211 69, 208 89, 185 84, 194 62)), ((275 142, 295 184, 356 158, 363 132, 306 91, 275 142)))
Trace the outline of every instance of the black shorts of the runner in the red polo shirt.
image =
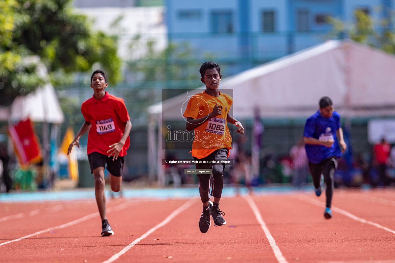
POLYGON ((116 160, 113 160, 113 156, 108 157, 108 155, 104 155, 102 153, 98 153, 94 151, 93 153, 88 154, 88 160, 90 164, 90 172, 93 173, 93 170, 98 167, 105 167, 107 164, 107 170, 114 176, 122 175, 122 168, 124 163, 124 157, 119 157, 116 160))

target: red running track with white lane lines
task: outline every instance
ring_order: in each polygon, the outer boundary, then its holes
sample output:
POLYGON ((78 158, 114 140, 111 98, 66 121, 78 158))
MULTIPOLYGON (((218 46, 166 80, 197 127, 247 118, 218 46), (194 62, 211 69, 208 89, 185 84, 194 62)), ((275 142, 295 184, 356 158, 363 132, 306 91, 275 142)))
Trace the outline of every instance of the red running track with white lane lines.
POLYGON ((228 224, 206 234, 199 198, 113 199, 110 237, 94 200, 0 203, 1 262, 395 263, 395 190, 337 190, 330 220, 324 196, 222 198, 228 224))

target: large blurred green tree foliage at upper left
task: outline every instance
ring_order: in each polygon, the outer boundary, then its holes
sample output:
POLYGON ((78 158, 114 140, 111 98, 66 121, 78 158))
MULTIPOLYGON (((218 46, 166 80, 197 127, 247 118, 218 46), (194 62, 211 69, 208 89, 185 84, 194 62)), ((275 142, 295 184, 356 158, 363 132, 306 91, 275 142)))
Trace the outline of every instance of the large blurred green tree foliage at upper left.
POLYGON ((121 80, 117 38, 93 32, 87 17, 72 12, 70 2, 0 1, 0 104, 43 83, 36 65, 26 59, 30 56, 45 64, 53 84, 73 72, 91 70, 94 63, 107 71, 110 83, 121 80))

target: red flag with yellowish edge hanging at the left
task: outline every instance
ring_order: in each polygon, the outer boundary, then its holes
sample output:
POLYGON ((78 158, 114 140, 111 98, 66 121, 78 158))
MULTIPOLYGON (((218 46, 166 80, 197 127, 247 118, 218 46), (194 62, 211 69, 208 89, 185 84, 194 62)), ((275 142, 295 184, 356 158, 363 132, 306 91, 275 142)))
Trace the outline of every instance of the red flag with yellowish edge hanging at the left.
POLYGON ((16 125, 8 126, 8 133, 12 139, 15 153, 21 165, 28 165, 41 161, 41 145, 30 119, 20 121, 16 125))

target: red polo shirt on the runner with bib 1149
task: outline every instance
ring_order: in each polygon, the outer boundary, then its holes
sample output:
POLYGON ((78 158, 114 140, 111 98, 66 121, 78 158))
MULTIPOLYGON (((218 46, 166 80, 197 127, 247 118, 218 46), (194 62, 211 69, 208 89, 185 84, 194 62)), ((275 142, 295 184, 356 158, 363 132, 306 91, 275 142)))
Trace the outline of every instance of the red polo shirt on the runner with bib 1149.
MULTIPOLYGON (((125 122, 130 120, 124 100, 105 92, 102 99, 92 98, 84 101, 81 112, 86 121, 92 124, 88 133, 88 154, 93 152, 108 155, 109 145, 122 138, 125 122)), ((129 136, 118 156, 126 155, 129 148, 129 136)))

